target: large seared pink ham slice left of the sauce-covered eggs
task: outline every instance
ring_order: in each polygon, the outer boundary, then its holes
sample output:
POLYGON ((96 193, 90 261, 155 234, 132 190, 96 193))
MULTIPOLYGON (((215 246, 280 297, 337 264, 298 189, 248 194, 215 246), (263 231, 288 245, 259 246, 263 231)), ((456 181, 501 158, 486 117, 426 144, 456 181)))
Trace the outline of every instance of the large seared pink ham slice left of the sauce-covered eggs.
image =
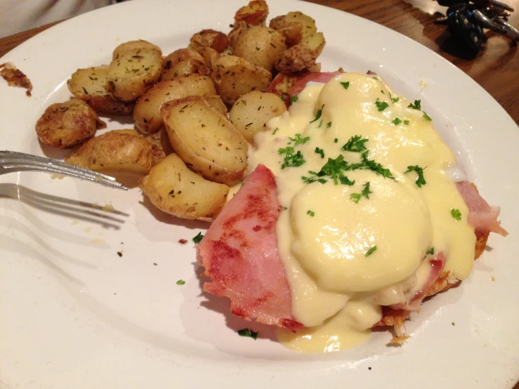
POLYGON ((251 173, 197 247, 198 263, 212 282, 204 291, 227 297, 230 309, 295 331, 290 289, 277 253, 275 226, 282 208, 275 177, 263 165, 251 173))

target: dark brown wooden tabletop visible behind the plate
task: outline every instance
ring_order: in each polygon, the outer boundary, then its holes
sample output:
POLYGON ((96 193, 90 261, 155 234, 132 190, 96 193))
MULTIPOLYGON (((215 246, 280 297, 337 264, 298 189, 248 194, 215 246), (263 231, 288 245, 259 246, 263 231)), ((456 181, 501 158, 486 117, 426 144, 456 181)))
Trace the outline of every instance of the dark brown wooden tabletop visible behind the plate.
MULTIPOLYGON (((488 91, 519 123, 519 49, 510 40, 489 33, 486 48, 471 57, 450 39, 447 27, 435 24, 445 13, 433 0, 306 0, 367 18, 394 29, 442 55, 488 91)), ((519 27, 519 0, 504 0, 515 8, 509 22, 519 27)), ((0 39, 0 57, 55 23, 0 39)), ((518 366, 519 369, 519 366, 518 366)), ((517 383, 512 389, 519 389, 517 383)))

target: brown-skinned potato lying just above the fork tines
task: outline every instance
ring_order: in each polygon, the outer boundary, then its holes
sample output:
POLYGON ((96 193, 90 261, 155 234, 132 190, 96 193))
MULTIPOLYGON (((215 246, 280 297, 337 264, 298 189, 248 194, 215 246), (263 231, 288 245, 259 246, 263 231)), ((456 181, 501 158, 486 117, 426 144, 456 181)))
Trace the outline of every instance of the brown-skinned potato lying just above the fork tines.
POLYGON ((95 171, 113 169, 148 173, 157 161, 157 146, 135 130, 114 130, 91 138, 65 162, 95 171))

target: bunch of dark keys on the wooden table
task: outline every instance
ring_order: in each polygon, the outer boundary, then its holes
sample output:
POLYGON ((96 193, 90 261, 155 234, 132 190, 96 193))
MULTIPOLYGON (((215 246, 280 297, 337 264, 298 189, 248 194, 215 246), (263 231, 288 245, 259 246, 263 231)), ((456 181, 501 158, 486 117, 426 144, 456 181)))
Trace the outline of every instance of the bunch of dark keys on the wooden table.
POLYGON ((446 6, 447 16, 438 18, 436 22, 449 26, 452 35, 461 40, 477 53, 487 41, 483 29, 490 29, 497 34, 519 41, 519 32, 508 22, 513 8, 497 0, 438 0, 440 6, 446 6))

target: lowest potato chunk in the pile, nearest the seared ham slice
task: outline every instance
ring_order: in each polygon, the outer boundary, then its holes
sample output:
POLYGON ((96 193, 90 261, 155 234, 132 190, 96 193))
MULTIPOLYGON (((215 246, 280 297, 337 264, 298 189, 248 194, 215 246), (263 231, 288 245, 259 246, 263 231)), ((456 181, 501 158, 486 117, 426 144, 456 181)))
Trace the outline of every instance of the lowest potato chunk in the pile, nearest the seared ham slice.
POLYGON ((176 154, 153 166, 139 187, 161 211, 191 220, 213 220, 229 193, 227 185, 211 183, 190 171, 176 154))

